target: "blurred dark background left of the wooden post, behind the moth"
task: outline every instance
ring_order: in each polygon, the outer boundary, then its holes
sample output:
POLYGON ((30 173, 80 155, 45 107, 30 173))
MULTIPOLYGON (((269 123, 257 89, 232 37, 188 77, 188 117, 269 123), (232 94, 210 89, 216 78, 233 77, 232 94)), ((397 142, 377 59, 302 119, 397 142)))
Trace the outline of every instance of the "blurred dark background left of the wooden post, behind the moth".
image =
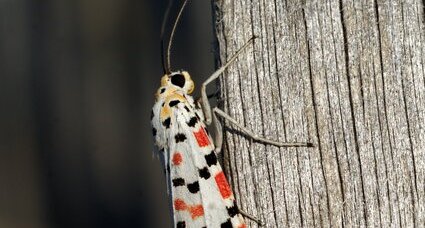
MULTIPOLYGON (((0 0, 1 228, 170 227, 149 122, 167 4, 0 0)), ((198 85, 211 15, 190 1, 174 42, 173 68, 198 85)))

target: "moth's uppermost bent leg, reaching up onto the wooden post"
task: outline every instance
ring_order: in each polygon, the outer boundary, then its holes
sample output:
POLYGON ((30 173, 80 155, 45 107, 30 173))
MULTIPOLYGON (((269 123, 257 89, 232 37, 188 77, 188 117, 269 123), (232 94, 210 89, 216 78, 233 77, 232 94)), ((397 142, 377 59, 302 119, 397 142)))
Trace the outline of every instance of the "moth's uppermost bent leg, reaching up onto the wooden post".
POLYGON ((211 83, 212 81, 214 81, 215 79, 218 78, 218 76, 220 76, 220 74, 222 74, 227 67, 230 66, 230 64, 232 64, 236 58, 238 57, 238 55, 240 55, 242 53, 242 51, 244 51, 248 45, 255 39, 256 37, 253 36, 251 39, 249 39, 231 58, 230 60, 224 64, 224 66, 220 67, 218 70, 216 70, 207 80, 205 80, 204 83, 202 83, 201 86, 201 99, 202 99, 202 110, 204 111, 204 116, 205 116, 205 124, 210 125, 211 124, 211 120, 212 120, 212 113, 211 113, 211 106, 210 103, 208 101, 208 95, 207 95, 207 91, 206 91, 206 87, 209 83, 211 83))

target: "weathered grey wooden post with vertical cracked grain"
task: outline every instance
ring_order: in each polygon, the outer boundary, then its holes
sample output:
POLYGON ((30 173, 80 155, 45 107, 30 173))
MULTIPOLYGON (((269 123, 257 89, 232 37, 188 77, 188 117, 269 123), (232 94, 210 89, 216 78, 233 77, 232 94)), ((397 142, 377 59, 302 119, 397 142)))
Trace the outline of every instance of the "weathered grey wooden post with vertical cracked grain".
MULTIPOLYGON (((238 204, 266 227, 425 226, 422 0, 213 2, 222 107, 238 204)), ((256 227, 255 223, 250 223, 256 227)))

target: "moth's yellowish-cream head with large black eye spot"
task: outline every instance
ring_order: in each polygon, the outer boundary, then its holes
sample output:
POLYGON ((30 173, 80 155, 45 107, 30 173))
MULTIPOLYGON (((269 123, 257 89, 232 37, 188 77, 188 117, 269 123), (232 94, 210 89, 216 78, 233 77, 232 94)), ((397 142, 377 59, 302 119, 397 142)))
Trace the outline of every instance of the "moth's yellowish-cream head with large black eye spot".
POLYGON ((187 71, 176 71, 171 74, 165 74, 161 78, 161 87, 175 87, 186 94, 191 94, 195 84, 187 71))

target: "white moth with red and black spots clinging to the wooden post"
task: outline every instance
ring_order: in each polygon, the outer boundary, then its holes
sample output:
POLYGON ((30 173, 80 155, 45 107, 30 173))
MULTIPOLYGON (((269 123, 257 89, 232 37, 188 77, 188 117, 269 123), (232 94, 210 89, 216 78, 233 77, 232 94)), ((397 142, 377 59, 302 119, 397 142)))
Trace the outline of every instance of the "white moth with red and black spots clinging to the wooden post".
POLYGON ((231 187, 217 159, 216 153, 221 150, 222 144, 222 128, 217 117, 224 118, 259 142, 276 146, 311 146, 311 144, 282 143, 259 137, 222 110, 211 108, 206 86, 218 78, 255 37, 243 45, 224 66, 202 84, 201 102, 195 103, 191 96, 194 82, 190 74, 170 69, 171 41, 186 3, 187 0, 179 11, 170 35, 166 65, 162 58, 164 75, 161 78, 161 86, 155 94, 156 101, 151 116, 155 144, 165 166, 174 227, 244 228, 246 223, 243 216, 256 219, 236 206, 231 187), (216 131, 214 140, 206 127, 211 123, 214 124, 216 131))

